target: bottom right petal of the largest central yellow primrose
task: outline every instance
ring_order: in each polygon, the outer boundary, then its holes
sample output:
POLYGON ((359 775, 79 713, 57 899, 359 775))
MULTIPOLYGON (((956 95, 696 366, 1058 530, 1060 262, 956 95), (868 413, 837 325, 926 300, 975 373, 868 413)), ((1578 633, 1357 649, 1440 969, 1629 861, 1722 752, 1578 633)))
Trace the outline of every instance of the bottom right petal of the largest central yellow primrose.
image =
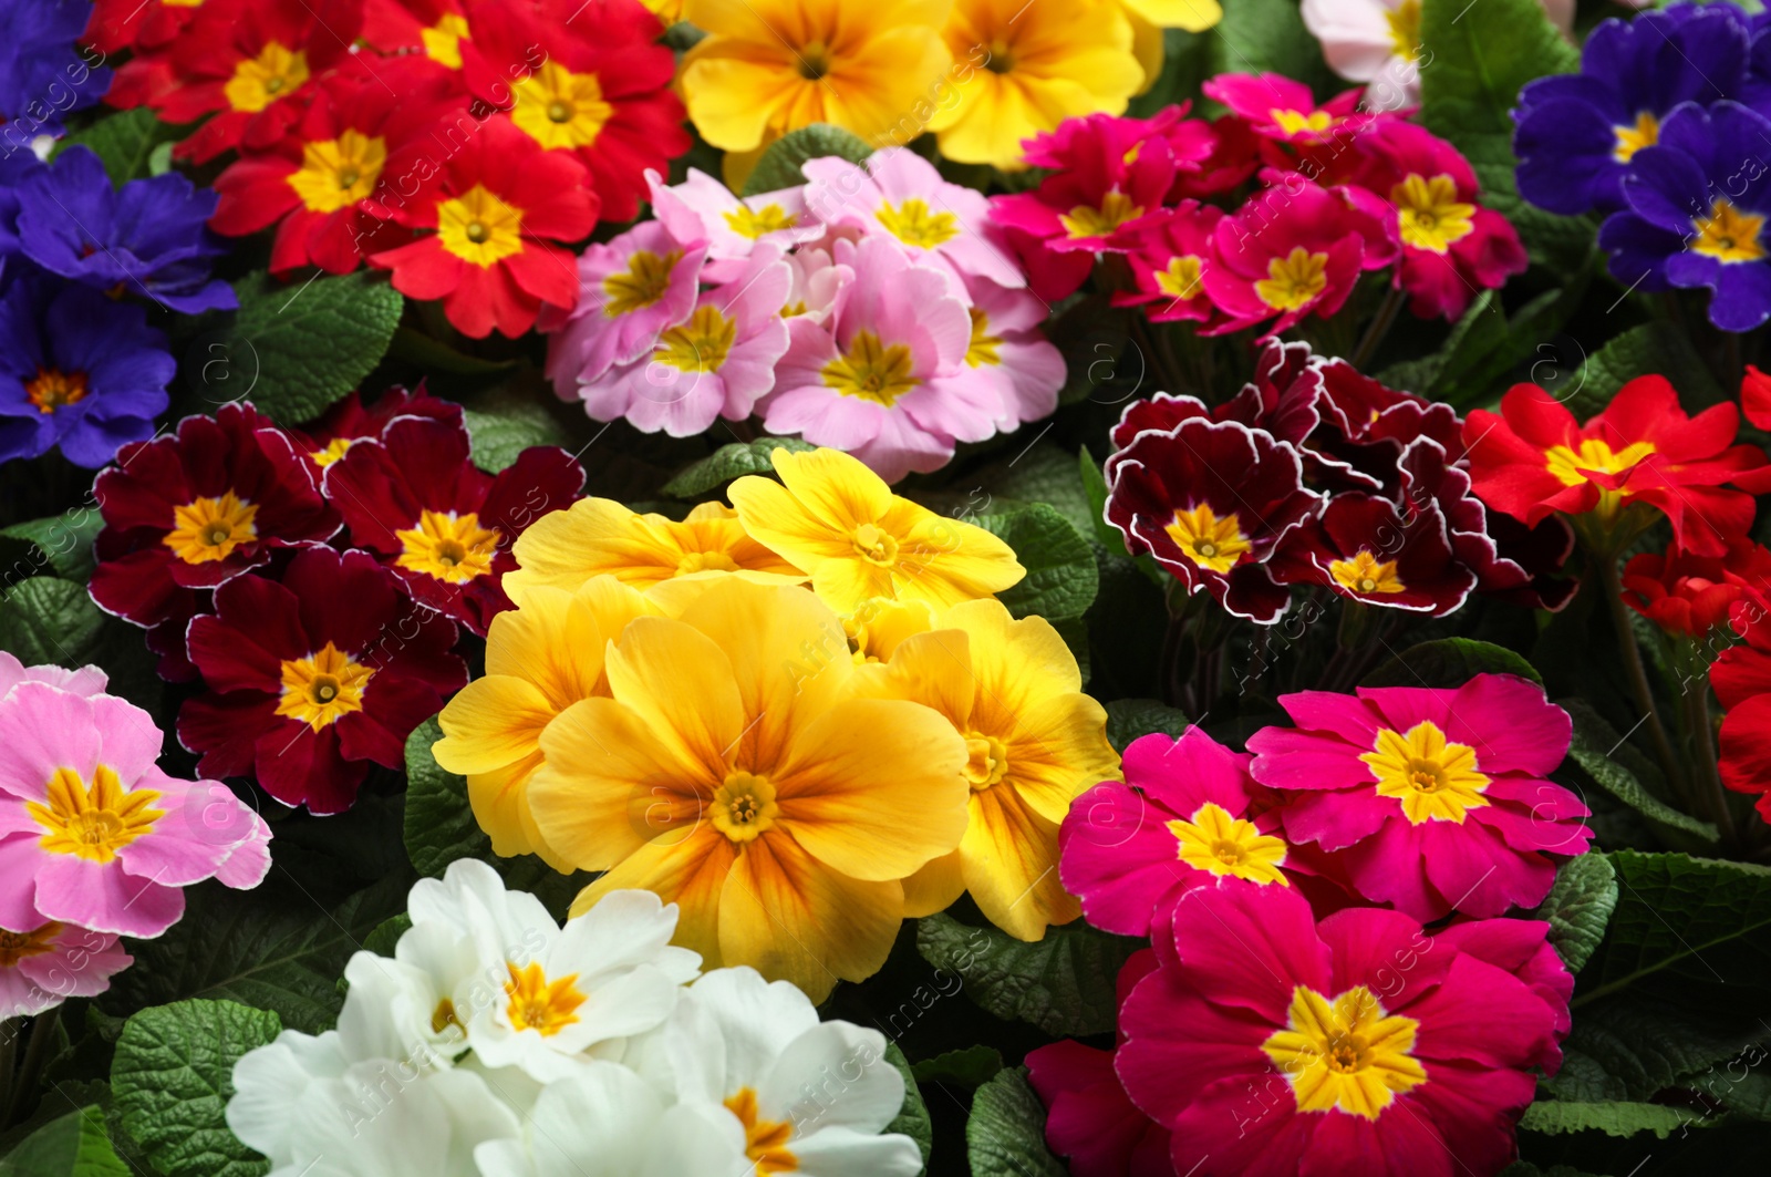
MULTIPOLYGON (((903 922, 903 886, 831 870, 792 837, 749 842, 719 895, 719 959, 792 980, 822 1002, 841 980, 886 964, 903 922)), ((691 945, 692 947, 692 945, 691 945)))

